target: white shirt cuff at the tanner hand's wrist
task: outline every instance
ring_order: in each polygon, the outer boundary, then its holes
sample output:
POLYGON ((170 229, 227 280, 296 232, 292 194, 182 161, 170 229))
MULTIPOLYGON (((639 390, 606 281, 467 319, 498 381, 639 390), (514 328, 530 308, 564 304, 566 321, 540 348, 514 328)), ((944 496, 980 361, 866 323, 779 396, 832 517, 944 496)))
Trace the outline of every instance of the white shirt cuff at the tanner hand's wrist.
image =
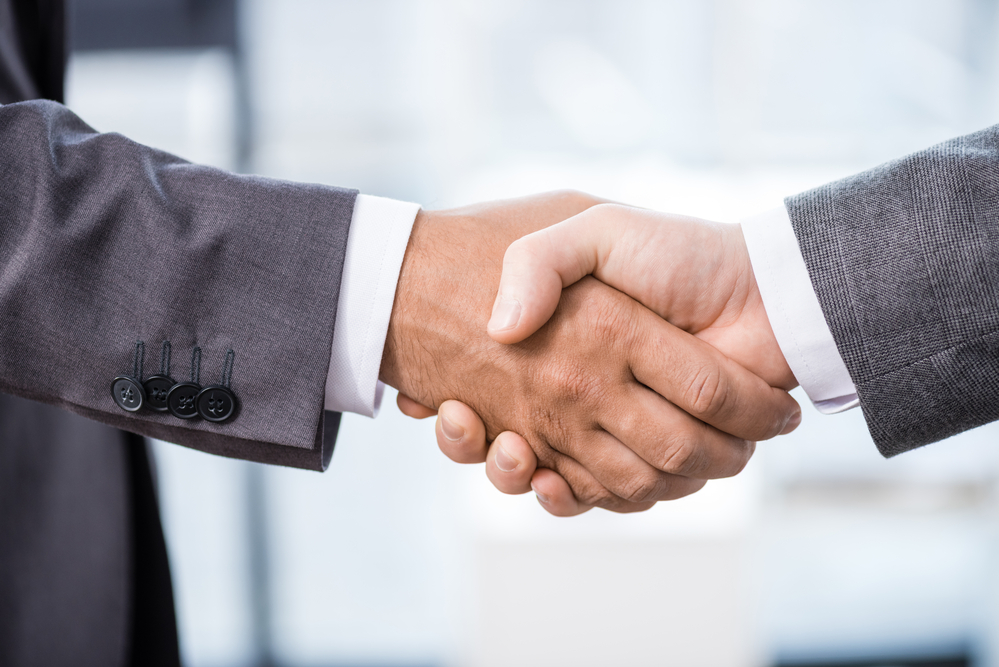
POLYGON ((358 195, 347 235, 324 407, 374 417, 378 379, 402 259, 418 204, 358 195))

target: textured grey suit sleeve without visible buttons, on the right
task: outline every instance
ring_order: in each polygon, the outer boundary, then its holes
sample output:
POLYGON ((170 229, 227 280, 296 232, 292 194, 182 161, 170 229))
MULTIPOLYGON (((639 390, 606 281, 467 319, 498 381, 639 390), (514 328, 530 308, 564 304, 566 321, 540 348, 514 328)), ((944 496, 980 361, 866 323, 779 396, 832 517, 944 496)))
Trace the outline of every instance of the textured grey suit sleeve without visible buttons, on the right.
POLYGON ((999 125, 785 205, 878 449, 999 419, 999 125))

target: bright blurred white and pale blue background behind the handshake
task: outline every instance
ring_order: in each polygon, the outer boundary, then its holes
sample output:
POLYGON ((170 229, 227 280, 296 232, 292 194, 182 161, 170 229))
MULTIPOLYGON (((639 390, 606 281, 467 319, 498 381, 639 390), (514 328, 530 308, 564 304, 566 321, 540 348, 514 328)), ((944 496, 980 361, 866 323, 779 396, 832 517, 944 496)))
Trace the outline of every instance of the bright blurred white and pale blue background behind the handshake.
MULTIPOLYGON (((997 0, 74 0, 68 103, 442 208, 738 221, 999 122, 997 0)), ((807 399, 797 395, 803 405, 807 399)), ((739 477, 548 516, 386 396, 325 474, 156 447, 189 667, 999 666, 999 430, 886 461, 806 407, 739 477)))

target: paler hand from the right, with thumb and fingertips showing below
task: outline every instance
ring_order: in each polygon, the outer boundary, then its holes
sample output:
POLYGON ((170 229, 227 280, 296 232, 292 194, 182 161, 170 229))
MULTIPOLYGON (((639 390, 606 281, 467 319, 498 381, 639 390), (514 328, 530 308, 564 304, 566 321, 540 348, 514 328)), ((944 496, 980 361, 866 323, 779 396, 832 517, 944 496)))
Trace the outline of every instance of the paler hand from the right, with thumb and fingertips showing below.
MULTIPOLYGON (((738 225, 615 204, 589 208, 511 244, 490 335, 508 344, 523 340, 555 311, 562 289, 588 274, 710 343, 769 384, 784 389, 797 385, 774 338, 738 225)), ((785 430, 793 430, 798 421, 800 414, 785 430)), ((533 451, 516 433, 500 434, 487 449, 478 416, 456 401, 441 406, 438 424, 445 454, 463 463, 485 460, 487 475, 501 491, 524 493, 533 486, 554 514, 589 509, 557 474, 536 471, 533 451)))

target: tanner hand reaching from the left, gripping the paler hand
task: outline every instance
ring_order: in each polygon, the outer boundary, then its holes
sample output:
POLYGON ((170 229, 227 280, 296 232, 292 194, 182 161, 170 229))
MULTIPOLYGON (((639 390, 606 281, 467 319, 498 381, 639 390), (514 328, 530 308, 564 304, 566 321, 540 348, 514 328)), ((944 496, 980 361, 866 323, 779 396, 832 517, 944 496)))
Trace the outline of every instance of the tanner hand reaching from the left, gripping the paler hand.
POLYGON ((592 203, 563 193, 418 216, 381 377, 411 413, 467 404, 483 417, 473 433, 483 443, 522 434, 536 462, 588 506, 647 509, 737 473, 751 441, 783 431, 800 411, 785 392, 593 279, 566 290, 528 340, 486 335, 507 247, 592 203))

